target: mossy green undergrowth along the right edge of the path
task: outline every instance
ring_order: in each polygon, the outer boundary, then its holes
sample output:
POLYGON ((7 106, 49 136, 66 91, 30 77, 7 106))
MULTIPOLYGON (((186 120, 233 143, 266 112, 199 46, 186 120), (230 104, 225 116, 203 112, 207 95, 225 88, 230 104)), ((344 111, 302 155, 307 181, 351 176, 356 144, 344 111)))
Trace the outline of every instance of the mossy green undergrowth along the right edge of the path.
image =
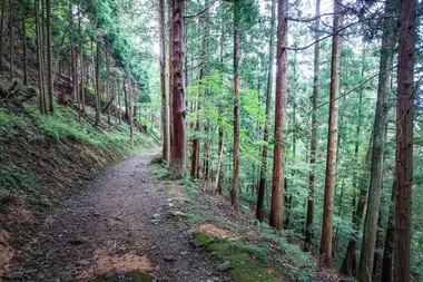
MULTIPOLYGON (((159 179, 171 176, 165 164, 153 164, 151 171, 159 179)), ((185 194, 195 203, 201 202, 201 192, 197 183, 185 177, 178 182, 185 194)), ((245 206, 248 206, 245 203, 245 206)), ((240 234, 238 240, 209 239, 209 235, 195 232, 193 242, 206 245, 206 250, 219 262, 229 262, 228 274, 234 281, 240 282, 275 282, 275 281, 313 281, 312 257, 298 245, 291 244, 284 236, 256 220, 245 220, 242 223, 229 217, 217 215, 210 208, 197 206, 191 210, 186 221, 193 224, 216 223, 229 231, 240 234)))

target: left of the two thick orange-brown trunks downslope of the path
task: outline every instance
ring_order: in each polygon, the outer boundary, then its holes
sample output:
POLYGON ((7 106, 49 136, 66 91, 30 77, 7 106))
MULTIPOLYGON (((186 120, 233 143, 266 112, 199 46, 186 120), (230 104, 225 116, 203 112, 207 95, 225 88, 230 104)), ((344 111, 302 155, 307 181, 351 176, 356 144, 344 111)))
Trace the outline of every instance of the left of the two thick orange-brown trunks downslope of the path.
POLYGON ((282 228, 285 177, 285 119, 287 79, 287 0, 277 1, 277 47, 276 47, 276 98, 275 98, 275 147, 273 162, 272 204, 269 225, 282 228))

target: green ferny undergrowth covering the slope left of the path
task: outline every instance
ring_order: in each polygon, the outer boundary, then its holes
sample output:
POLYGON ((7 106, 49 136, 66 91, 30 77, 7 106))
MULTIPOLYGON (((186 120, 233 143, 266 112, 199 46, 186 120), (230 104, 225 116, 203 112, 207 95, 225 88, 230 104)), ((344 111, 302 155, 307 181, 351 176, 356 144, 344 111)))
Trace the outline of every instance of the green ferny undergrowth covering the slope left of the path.
MULTIPOLYGON (((95 113, 88 107, 87 115, 92 117, 95 113)), ((96 128, 58 104, 55 114, 49 115, 41 115, 30 104, 23 108, 0 105, 0 204, 23 194, 29 204, 47 211, 60 202, 56 193, 41 188, 53 184, 48 182, 55 173, 59 178, 63 175, 66 182, 77 181, 73 176, 94 179, 105 165, 102 159, 116 162, 157 145, 147 134, 135 130, 136 149, 130 150, 129 126, 115 117, 111 125, 106 123, 104 118, 102 126, 96 128), (40 162, 46 168, 39 167, 40 162), (68 172, 73 178, 66 178, 68 172)))

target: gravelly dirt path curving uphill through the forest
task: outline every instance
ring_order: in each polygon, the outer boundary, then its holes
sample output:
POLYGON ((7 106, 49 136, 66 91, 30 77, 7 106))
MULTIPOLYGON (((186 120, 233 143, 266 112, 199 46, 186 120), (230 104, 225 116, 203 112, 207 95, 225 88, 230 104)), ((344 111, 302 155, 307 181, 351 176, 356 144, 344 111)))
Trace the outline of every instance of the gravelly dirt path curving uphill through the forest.
POLYGON ((150 150, 108 168, 42 225, 22 281, 230 281, 190 243, 188 223, 171 211, 186 200, 149 176, 150 150), (156 182, 156 183, 155 183, 156 182), (120 273, 132 273, 132 280, 120 273), (109 279, 109 280, 106 280, 109 279))

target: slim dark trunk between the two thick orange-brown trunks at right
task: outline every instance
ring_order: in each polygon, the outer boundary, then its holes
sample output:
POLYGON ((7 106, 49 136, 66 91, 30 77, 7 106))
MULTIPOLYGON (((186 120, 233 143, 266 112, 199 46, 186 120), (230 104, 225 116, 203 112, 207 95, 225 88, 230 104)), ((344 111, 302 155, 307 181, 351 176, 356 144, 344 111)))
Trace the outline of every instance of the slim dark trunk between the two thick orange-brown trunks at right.
MULTIPOLYGON (((317 42, 319 39, 321 29, 321 0, 316 0, 316 20, 314 22, 314 40, 317 42)), ((312 140, 309 145, 309 175, 308 175, 308 198, 307 198, 307 218, 305 223, 305 241, 304 251, 308 252, 312 247, 313 239, 313 217, 314 217, 314 186, 316 178, 316 148, 317 148, 317 99, 318 99, 318 66, 321 58, 321 45, 317 42, 314 46, 314 75, 313 75, 313 114, 312 114, 312 140)))

